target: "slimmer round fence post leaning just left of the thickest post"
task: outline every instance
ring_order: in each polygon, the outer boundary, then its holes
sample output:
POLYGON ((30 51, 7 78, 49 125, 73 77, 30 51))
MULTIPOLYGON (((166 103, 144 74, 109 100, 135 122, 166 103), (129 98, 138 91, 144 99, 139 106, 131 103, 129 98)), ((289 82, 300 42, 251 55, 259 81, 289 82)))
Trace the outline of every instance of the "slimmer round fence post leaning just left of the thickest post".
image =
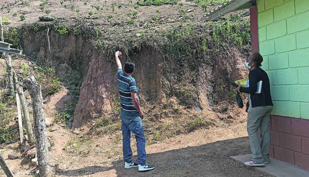
POLYGON ((28 142, 35 142, 36 139, 34 137, 34 133, 32 131, 32 126, 31 126, 31 120, 30 120, 30 116, 29 116, 29 110, 28 110, 28 105, 27 105, 27 101, 26 101, 26 97, 25 94, 23 93, 23 87, 19 87, 17 89, 17 93, 19 96, 19 100, 21 103, 21 108, 23 110, 23 119, 25 121, 25 127, 27 129, 27 134, 28 134, 28 142))

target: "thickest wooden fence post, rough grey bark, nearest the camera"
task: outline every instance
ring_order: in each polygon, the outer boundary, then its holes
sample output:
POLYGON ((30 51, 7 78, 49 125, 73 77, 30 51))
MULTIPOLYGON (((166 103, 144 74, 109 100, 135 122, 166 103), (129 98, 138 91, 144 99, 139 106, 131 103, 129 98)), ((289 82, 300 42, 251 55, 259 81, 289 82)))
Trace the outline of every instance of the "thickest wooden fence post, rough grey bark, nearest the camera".
POLYGON ((46 123, 44 116, 43 97, 41 85, 36 82, 34 76, 24 80, 32 99, 32 110, 34 119, 34 130, 36 134, 36 153, 39 162, 40 177, 51 177, 52 171, 49 165, 48 148, 49 142, 46 134, 46 123))

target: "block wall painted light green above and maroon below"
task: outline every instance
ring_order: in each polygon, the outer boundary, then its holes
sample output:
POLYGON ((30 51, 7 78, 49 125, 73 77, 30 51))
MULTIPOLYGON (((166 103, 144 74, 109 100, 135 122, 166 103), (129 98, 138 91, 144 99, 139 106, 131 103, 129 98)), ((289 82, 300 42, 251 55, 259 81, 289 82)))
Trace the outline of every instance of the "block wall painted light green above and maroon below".
POLYGON ((257 0, 262 69, 273 99, 273 158, 309 170, 309 1, 257 0))

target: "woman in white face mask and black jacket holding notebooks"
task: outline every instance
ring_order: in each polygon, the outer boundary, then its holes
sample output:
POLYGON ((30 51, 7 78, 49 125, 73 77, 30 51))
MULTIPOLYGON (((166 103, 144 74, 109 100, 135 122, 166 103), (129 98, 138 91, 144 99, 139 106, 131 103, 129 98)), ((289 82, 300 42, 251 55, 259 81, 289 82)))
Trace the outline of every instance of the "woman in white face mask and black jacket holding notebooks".
POLYGON ((249 166, 264 166, 269 163, 270 146, 270 114, 273 110, 273 102, 270 95, 270 84, 267 73, 260 68, 263 57, 259 53, 251 53, 245 65, 249 72, 249 87, 236 88, 239 92, 248 93, 248 120, 247 131, 252 151, 252 159, 245 162, 249 166), (257 91, 257 82, 262 81, 261 93, 257 91), (261 142, 258 137, 260 129, 261 142))

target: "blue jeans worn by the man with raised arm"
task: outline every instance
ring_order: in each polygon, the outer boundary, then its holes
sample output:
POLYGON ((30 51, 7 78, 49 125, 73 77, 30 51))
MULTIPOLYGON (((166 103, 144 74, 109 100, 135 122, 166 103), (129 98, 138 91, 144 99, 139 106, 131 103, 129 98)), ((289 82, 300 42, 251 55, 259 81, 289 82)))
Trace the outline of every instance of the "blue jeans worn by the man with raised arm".
POLYGON ((139 165, 146 165, 145 136, 140 116, 130 117, 120 113, 122 130, 122 150, 125 162, 132 162, 131 132, 135 134, 139 165))

